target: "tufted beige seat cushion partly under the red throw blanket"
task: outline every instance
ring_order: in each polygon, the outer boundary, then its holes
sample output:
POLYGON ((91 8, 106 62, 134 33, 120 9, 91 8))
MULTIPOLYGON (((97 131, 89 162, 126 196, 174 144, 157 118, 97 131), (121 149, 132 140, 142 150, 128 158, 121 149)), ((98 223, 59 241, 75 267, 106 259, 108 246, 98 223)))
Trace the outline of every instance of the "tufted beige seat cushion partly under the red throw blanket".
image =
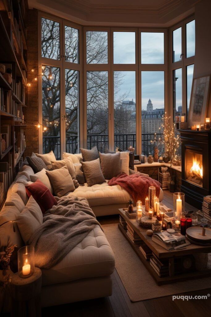
POLYGON ((128 192, 119 185, 109 186, 108 183, 88 186, 85 183, 75 191, 68 193, 68 196, 84 197, 88 200, 90 207, 109 204, 127 203, 131 198, 128 192))

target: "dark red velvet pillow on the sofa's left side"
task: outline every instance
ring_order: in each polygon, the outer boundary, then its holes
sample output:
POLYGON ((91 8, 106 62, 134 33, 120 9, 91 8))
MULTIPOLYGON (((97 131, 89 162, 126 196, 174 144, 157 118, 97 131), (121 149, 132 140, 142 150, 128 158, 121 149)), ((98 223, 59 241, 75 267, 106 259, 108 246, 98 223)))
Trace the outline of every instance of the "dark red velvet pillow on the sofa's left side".
POLYGON ((42 213, 46 212, 46 210, 50 209, 53 205, 57 205, 57 201, 52 193, 39 179, 25 187, 28 197, 32 195, 40 206, 42 213))

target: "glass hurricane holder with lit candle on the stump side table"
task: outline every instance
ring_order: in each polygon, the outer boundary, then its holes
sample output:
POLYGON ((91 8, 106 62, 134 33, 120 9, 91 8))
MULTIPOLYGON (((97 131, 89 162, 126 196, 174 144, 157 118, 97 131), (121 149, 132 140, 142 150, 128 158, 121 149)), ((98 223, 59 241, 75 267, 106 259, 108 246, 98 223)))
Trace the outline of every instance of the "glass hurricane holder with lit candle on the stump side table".
POLYGON ((26 245, 18 250, 18 275, 29 277, 34 274, 34 247, 26 245))

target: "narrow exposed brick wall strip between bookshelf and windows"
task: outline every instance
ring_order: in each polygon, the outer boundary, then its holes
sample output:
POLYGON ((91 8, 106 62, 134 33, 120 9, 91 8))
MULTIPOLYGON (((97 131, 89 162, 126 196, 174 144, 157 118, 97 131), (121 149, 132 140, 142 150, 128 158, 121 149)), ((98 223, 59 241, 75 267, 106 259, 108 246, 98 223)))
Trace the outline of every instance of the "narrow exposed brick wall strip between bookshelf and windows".
MULTIPOLYGON (((34 68, 34 73, 28 72, 28 82, 38 74, 38 12, 37 10, 28 10, 27 13, 27 69, 34 68)), ((34 124, 38 123, 38 83, 33 81, 28 87, 28 100, 25 111, 25 119, 34 124)), ((25 156, 32 152, 38 152, 38 128, 28 125, 26 129, 27 148, 25 156)))

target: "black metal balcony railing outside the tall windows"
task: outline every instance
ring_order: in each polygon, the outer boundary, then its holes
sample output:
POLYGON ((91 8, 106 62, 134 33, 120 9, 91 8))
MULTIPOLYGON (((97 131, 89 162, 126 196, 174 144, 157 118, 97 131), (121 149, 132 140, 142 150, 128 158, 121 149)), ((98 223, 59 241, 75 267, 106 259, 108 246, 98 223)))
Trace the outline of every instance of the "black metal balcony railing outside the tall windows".
MULTIPOLYGON (((158 139, 163 139, 163 133, 157 133, 158 139)), ((148 155, 154 152, 154 133, 142 133, 141 144, 142 154, 148 155)), ((136 148, 136 134, 115 134, 114 135, 114 147, 121 148, 123 151, 127 151, 127 147, 132 145, 136 148)), ((87 148, 91 149, 93 146, 97 146, 100 152, 104 152, 105 147, 109 147, 108 134, 90 134, 87 135, 87 148)), ((164 145, 158 146, 159 151, 164 152, 164 145)), ((78 137, 67 136, 66 137, 66 152, 77 153, 78 150, 78 137)), ((56 158, 61 157, 60 153, 60 137, 43 137, 43 153, 53 151, 56 158)))

